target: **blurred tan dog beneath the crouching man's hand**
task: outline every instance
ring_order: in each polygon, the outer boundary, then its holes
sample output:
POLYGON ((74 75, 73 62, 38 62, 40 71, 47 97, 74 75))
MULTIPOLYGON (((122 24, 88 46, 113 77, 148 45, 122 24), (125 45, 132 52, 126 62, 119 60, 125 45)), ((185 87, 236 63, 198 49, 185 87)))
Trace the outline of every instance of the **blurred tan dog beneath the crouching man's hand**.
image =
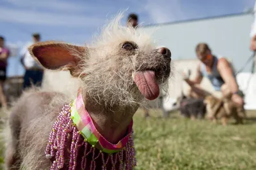
POLYGON ((243 106, 237 106, 236 103, 231 101, 231 98, 226 96, 218 99, 212 95, 205 97, 204 103, 207 108, 207 118, 213 122, 221 119, 222 125, 227 125, 227 120, 230 117, 234 117, 236 124, 243 124, 243 118, 245 117, 245 111, 243 106))

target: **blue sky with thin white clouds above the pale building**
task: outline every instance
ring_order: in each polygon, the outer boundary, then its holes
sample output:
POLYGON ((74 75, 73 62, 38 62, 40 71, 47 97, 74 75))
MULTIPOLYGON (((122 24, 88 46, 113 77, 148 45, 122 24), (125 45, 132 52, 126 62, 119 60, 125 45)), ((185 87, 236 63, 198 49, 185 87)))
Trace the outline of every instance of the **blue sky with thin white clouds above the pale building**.
MULTIPOLYGON (((253 5, 254 0, 1 0, 0 35, 20 48, 31 41, 33 32, 40 32, 43 41, 83 44, 125 8, 125 15, 138 13, 147 25, 241 13, 253 5)), ((9 76, 23 73, 17 61, 10 59, 9 76)))

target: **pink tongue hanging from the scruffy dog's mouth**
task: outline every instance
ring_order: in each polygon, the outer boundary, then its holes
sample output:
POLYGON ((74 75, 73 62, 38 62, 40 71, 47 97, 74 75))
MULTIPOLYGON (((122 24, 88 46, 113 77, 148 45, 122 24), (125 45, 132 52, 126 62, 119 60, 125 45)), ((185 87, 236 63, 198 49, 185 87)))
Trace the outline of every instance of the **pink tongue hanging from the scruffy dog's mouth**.
POLYGON ((154 71, 138 71, 134 74, 134 81, 141 94, 148 100, 154 100, 159 96, 159 85, 154 71))

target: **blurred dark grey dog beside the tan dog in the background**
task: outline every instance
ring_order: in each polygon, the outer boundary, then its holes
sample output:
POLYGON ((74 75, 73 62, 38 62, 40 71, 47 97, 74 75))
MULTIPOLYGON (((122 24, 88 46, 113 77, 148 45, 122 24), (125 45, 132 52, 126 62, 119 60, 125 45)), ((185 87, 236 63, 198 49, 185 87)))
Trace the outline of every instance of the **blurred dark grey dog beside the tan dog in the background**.
POLYGON ((206 108, 203 99, 193 99, 182 94, 178 101, 180 115, 191 118, 191 120, 196 118, 203 119, 205 117, 206 108))

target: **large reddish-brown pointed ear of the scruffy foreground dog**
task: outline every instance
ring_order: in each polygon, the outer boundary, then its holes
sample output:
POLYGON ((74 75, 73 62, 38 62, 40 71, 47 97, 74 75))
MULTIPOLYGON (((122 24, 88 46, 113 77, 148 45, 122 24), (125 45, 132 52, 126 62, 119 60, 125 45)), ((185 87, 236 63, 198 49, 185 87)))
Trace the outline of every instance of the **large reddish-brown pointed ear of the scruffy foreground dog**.
POLYGON ((29 53, 47 69, 70 70, 72 76, 79 76, 79 62, 86 53, 86 47, 69 45, 56 41, 38 42, 29 46, 29 53))

